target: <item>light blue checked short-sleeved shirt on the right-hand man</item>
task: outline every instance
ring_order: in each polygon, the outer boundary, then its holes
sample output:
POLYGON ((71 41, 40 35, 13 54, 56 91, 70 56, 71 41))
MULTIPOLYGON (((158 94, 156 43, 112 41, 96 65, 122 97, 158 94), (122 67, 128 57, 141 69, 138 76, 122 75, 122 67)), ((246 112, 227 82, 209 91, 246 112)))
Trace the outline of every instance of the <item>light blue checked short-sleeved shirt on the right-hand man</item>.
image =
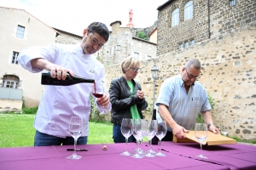
MULTIPOLYGON (((169 77, 162 83, 156 102, 156 105, 159 104, 167 105, 173 120, 187 130, 195 127, 200 112, 212 109, 201 83, 195 81, 187 94, 181 75, 169 77)), ((168 130, 172 131, 171 127, 168 130)))

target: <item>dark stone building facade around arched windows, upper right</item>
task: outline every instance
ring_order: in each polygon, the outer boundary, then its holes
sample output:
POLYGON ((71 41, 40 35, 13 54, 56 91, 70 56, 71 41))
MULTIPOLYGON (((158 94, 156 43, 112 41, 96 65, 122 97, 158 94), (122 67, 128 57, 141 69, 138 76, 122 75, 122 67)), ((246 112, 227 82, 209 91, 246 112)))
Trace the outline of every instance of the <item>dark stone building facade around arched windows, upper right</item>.
POLYGON ((193 18, 184 20, 184 5, 189 0, 170 1, 159 8, 157 55, 177 50, 180 43, 223 36, 256 20, 255 1, 194 0, 193 18), (179 25, 172 26, 172 12, 179 8, 179 25))

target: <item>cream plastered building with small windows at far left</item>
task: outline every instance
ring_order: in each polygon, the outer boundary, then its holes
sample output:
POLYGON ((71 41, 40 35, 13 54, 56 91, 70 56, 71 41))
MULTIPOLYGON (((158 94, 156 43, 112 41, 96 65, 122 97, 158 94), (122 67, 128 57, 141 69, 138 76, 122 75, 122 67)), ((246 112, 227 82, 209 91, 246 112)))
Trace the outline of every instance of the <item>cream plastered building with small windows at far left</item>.
POLYGON ((0 7, 0 110, 36 106, 42 95, 41 76, 17 62, 23 48, 55 42, 59 34, 26 10, 0 7))

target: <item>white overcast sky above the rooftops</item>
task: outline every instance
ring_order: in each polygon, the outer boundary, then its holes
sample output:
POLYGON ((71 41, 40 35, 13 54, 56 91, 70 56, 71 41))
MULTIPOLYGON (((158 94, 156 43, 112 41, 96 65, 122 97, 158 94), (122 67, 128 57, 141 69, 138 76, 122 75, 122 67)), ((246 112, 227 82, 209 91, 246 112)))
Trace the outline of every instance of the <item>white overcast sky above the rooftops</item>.
POLYGON ((129 9, 133 10, 135 27, 152 26, 158 8, 167 0, 0 0, 0 6, 25 9, 28 13, 57 29, 82 35, 91 22, 100 21, 110 29, 116 20, 125 27, 129 9))

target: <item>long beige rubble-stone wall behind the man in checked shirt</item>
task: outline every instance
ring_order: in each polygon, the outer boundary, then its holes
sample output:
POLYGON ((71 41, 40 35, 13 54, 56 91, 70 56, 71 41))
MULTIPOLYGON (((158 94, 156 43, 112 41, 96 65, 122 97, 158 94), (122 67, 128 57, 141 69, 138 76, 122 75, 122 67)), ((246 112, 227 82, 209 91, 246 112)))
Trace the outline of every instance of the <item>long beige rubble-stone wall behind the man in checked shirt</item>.
MULTIPOLYGON (((160 84, 167 78, 180 74, 183 64, 192 58, 200 59, 201 82, 216 104, 212 110, 214 123, 229 125, 230 136, 241 139, 256 138, 256 27, 246 26, 224 37, 215 37, 189 48, 162 54, 158 59, 142 61, 142 71, 137 81, 145 91, 149 108, 153 101, 151 68, 157 65, 160 77, 156 81, 156 99, 160 84)), ((107 65, 107 85, 122 76, 119 65, 107 65)), ((151 118, 150 111, 144 113, 151 118)))

